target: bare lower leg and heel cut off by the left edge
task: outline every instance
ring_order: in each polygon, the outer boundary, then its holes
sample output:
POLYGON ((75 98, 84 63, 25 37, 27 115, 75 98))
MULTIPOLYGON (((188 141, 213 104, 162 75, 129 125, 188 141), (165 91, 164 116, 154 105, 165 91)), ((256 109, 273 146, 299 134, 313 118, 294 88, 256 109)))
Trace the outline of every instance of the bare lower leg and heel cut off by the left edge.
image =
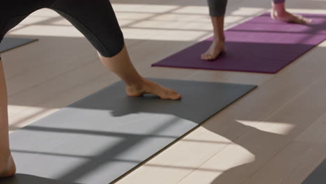
POLYGON ((2 62, 0 61, 0 178, 13 176, 16 171, 15 162, 9 149, 8 133, 7 89, 2 62))

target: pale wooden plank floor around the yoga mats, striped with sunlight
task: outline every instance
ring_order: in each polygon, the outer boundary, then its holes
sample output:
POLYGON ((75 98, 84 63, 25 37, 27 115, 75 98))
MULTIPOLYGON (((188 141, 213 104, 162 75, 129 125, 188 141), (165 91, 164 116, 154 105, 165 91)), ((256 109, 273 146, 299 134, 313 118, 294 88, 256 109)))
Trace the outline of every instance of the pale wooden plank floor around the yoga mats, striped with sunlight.
MULTIPOLYGON (((258 89, 132 171, 118 184, 301 183, 326 158, 326 41, 277 75, 150 68, 211 36, 206 1, 114 0, 127 48, 145 77, 258 84, 258 89)), ((326 1, 288 0, 297 13, 326 13, 326 1)), ((261 0, 228 2, 226 28, 270 10, 261 0)), ((1 54, 16 130, 118 80, 93 47, 52 10, 8 36, 40 38, 1 54)))

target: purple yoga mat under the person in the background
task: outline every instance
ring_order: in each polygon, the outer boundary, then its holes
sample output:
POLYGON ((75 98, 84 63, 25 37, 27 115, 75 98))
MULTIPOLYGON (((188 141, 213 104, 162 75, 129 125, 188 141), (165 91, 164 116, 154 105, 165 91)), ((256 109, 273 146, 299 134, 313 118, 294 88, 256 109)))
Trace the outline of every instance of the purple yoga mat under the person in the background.
POLYGON ((225 31, 227 54, 215 61, 201 60, 208 38, 152 66, 276 73, 326 39, 326 15, 304 16, 313 22, 277 22, 264 13, 225 31))

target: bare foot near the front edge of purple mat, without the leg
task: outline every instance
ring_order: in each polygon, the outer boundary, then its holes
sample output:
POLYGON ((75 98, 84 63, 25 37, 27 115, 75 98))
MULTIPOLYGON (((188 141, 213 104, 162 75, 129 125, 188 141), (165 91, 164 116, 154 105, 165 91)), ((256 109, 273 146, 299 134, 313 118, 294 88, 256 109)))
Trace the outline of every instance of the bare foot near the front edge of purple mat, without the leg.
POLYGON ((219 41, 214 39, 208 50, 204 54, 201 54, 201 59, 205 61, 214 60, 217 56, 225 52, 224 40, 219 41))

